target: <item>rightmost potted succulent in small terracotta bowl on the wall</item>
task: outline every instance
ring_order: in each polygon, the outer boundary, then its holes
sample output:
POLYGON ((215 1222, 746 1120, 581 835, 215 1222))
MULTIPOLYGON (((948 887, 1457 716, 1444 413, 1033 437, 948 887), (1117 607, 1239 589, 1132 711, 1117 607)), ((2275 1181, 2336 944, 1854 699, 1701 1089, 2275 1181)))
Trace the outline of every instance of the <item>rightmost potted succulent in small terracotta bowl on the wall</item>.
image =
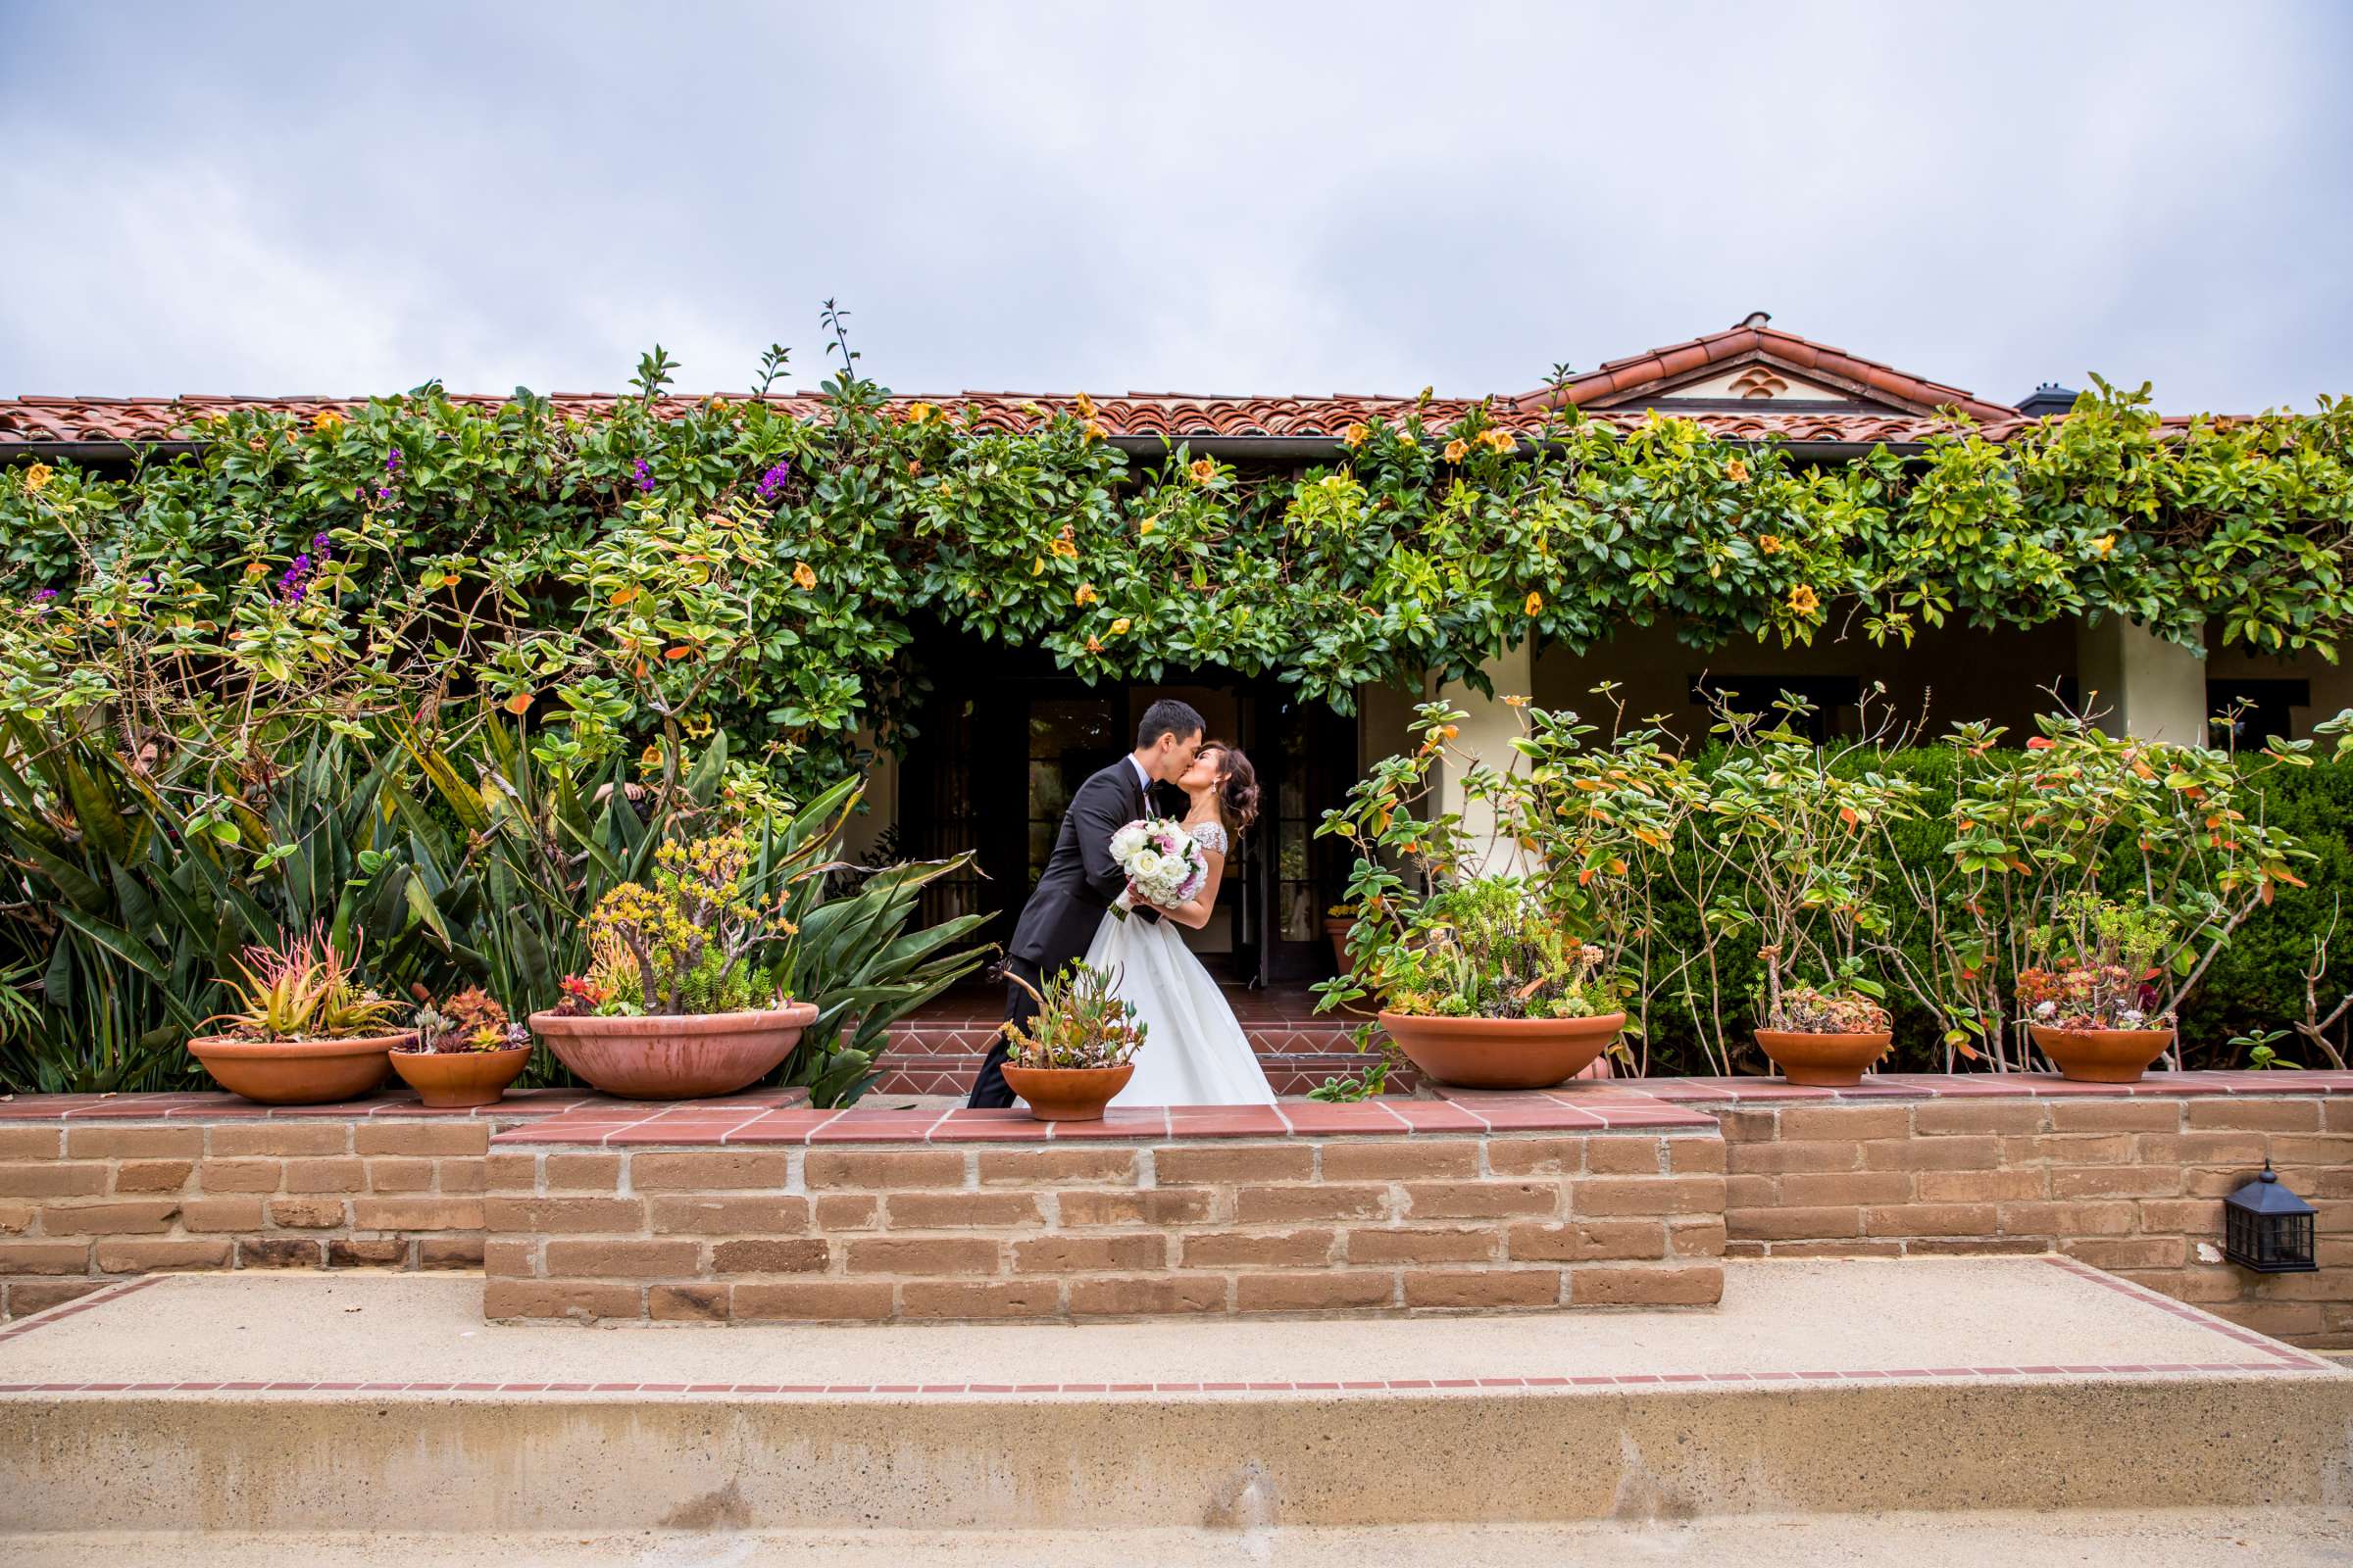
POLYGON ((2174 1044, 2169 973, 2155 961, 2174 945, 2174 922, 2148 905, 2068 893, 2031 943, 2040 961, 2019 971, 2017 1001, 2042 1056, 2080 1084, 2139 1084, 2174 1044))

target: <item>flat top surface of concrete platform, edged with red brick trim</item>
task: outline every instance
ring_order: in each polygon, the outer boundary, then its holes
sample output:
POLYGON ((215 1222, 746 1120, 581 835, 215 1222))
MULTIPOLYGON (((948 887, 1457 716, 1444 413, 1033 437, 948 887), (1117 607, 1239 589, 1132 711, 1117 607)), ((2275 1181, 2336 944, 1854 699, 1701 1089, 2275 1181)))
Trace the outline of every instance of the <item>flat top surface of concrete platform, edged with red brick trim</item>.
POLYGON ((1569 1380, 1569 1389, 1602 1389, 1668 1378, 1960 1380, 2151 1368, 2348 1378, 2322 1356, 2040 1258, 1732 1262, 1715 1312, 1075 1328, 492 1326, 480 1293, 480 1279, 431 1274, 158 1276, 0 1338, 0 1389, 322 1382, 487 1392, 553 1382, 981 1394, 1052 1382, 1247 1394, 1200 1385, 1569 1380))

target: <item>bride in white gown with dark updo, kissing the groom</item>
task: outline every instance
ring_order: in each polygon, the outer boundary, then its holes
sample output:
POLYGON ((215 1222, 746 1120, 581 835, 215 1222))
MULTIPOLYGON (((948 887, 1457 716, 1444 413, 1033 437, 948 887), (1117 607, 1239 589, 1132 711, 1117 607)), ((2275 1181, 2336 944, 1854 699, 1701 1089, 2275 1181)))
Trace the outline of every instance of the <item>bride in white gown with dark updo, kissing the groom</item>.
POLYGON ((1087 964, 1111 973, 1118 994, 1144 1020, 1136 1077, 1113 1105, 1273 1105, 1275 1091, 1219 994, 1217 980, 1184 945, 1176 926, 1209 924, 1217 884, 1233 842, 1259 816, 1259 776, 1240 750, 1209 741, 1176 780, 1191 809, 1184 827, 1209 860, 1209 879, 1188 903, 1160 907, 1165 919, 1104 914, 1087 964))

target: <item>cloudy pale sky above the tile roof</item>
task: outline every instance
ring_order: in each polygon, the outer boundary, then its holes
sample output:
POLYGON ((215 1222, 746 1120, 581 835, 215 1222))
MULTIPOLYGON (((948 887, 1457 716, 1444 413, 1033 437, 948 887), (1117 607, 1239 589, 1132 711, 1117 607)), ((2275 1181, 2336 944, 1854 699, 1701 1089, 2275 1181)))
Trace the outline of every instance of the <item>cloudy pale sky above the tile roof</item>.
POLYGON ((0 0, 0 393, 2353 393, 2353 5, 0 0), (859 14, 845 14, 859 12, 859 14))

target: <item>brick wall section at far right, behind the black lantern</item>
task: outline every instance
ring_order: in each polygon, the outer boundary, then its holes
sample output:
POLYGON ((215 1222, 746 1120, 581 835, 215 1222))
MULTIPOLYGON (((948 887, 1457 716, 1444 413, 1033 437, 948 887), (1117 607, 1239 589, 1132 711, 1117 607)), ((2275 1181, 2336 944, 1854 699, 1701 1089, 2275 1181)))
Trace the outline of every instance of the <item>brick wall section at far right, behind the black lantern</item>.
POLYGON ((1720 1112, 1725 1255, 2066 1253, 2306 1347, 2353 1347, 2353 1098, 1948 1098, 1720 1112), (2271 1159, 2318 1274, 2252 1274, 2221 1199, 2271 1159))

